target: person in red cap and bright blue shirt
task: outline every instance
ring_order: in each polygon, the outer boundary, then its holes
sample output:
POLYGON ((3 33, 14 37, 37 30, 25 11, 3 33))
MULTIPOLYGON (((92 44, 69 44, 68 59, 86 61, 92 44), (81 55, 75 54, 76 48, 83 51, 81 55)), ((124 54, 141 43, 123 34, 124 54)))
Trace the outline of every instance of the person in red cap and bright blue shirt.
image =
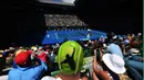
POLYGON ((48 67, 34 54, 32 56, 37 59, 38 66, 31 66, 31 55, 28 52, 21 52, 16 56, 14 62, 18 67, 9 71, 9 80, 41 80, 48 67))

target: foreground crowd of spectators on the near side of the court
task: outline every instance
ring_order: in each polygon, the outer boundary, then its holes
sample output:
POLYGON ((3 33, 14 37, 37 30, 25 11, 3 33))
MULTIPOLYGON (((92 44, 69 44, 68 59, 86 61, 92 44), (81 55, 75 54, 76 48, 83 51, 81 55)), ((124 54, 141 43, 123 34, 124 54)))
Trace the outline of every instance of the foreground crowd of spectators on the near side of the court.
POLYGON ((0 80, 143 80, 142 34, 0 50, 0 80), (84 70, 93 57, 93 71, 84 70), (4 68, 11 67, 8 77, 4 68), (89 73, 90 72, 90 73, 89 73), (4 80, 4 79, 3 79, 4 80))

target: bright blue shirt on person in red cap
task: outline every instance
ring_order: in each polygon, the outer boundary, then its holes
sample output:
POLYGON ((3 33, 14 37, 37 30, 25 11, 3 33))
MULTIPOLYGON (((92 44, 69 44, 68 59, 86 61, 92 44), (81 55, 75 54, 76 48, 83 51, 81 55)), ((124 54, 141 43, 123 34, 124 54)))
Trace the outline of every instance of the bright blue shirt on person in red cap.
POLYGON ((9 80, 41 80, 43 73, 48 70, 47 65, 38 59, 41 65, 34 67, 21 68, 17 66, 9 71, 9 80))

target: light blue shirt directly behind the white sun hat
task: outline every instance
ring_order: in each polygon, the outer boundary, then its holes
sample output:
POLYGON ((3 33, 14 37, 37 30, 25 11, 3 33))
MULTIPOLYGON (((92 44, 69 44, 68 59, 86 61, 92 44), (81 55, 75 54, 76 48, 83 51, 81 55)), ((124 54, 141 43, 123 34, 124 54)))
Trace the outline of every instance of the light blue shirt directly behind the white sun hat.
POLYGON ((111 53, 111 54, 116 54, 116 55, 119 55, 120 57, 123 58, 123 54, 122 54, 120 46, 114 44, 114 43, 112 43, 107 46, 107 52, 111 53))

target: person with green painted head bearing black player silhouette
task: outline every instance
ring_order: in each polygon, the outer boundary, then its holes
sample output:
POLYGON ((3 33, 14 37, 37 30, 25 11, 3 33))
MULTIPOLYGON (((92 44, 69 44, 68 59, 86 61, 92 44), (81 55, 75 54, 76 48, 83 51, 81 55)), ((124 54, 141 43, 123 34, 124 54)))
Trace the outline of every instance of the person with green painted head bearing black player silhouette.
POLYGON ((83 66, 83 49, 76 42, 63 43, 59 48, 55 61, 59 65, 60 73, 55 78, 43 77, 42 80, 88 80, 86 77, 80 77, 83 66))

